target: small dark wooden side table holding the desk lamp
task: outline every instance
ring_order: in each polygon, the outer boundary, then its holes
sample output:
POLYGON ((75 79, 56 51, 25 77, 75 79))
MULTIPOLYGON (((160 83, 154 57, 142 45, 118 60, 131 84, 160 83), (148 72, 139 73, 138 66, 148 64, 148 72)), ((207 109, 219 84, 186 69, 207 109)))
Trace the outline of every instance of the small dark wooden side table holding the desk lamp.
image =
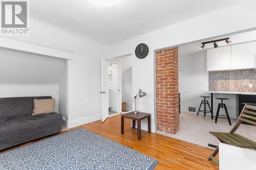
POLYGON ((140 112, 138 114, 134 114, 133 112, 130 113, 125 113, 121 115, 121 134, 124 134, 124 118, 130 118, 133 120, 133 129, 135 128, 135 120, 138 121, 138 128, 137 128, 137 139, 141 139, 141 120, 144 118, 147 118, 147 128, 148 128, 148 133, 151 133, 151 114, 150 113, 143 113, 140 112))

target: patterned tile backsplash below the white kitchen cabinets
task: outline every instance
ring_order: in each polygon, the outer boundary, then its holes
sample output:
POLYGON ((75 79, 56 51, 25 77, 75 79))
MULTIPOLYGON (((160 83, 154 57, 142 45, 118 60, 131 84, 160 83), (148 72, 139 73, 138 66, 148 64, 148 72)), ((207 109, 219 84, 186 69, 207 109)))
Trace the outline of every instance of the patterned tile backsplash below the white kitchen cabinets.
POLYGON ((209 91, 256 92, 256 70, 210 71, 209 91))

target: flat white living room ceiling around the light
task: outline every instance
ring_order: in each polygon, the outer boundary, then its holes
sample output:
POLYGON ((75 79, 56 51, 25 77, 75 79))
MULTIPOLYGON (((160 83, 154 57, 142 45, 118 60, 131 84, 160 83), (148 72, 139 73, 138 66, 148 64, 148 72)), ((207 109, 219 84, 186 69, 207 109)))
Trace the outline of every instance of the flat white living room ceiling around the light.
POLYGON ((33 0, 30 16, 113 44, 220 8, 240 5, 240 0, 117 0, 113 6, 100 7, 92 1, 33 0))

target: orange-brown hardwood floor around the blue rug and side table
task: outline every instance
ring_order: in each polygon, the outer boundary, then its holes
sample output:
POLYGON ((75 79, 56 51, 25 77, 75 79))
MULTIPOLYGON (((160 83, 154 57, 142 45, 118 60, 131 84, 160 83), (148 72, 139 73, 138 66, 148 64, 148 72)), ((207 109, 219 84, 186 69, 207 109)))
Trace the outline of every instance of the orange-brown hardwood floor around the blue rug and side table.
MULTIPOLYGON (((159 159, 160 162, 157 164, 155 169, 219 169, 214 162, 207 161, 207 157, 213 152, 213 150, 160 134, 147 133, 147 131, 141 131, 141 140, 137 140, 137 129, 132 129, 131 119, 124 120, 124 135, 121 135, 120 119, 120 115, 115 115, 109 117, 104 123, 101 123, 101 120, 97 120, 96 122, 71 128, 58 134, 66 133, 74 129, 85 128, 145 155, 159 159), (174 163, 172 160, 179 160, 179 162, 174 163)), ((23 147, 46 138, 48 137, 18 145, 11 149, 23 147)), ((4 150, 2 152, 6 152, 8 150, 4 150)), ((2 152, 0 151, 0 153, 2 152)))

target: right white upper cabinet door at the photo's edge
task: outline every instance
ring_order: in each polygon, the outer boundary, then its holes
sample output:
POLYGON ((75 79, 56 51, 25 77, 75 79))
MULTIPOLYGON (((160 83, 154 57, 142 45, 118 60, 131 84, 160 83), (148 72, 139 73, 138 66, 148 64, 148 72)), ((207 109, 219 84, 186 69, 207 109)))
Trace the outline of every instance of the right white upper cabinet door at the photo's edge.
POLYGON ((231 69, 256 68, 256 41, 231 45, 231 69))

